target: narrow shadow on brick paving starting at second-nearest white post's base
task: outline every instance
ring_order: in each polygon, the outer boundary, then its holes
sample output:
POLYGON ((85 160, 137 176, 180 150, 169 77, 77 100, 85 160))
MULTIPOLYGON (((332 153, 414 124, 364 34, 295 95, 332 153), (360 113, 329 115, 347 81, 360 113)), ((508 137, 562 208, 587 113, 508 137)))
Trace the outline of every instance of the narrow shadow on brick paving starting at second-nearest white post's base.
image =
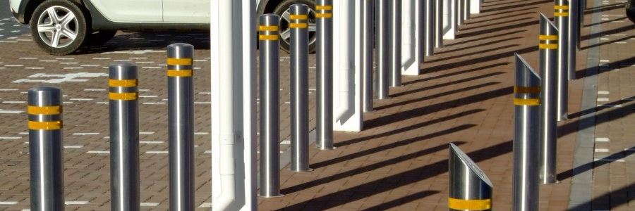
POLYGON ((394 122, 401 122, 404 120, 409 120, 411 118, 420 117, 421 115, 427 115, 430 113, 439 112, 441 110, 456 108, 459 106, 465 106, 471 103, 485 101, 491 98, 497 98, 500 96, 510 95, 512 93, 514 93, 514 87, 504 87, 504 88, 495 89, 492 91, 485 91, 481 94, 475 94, 472 96, 466 96, 464 98, 458 98, 452 101, 436 103, 430 106, 423 106, 421 108, 413 108, 410 110, 401 111, 400 113, 394 113, 392 115, 377 117, 373 120, 368 120, 364 122, 364 124, 371 125, 371 127, 377 127, 383 124, 392 124, 394 122))

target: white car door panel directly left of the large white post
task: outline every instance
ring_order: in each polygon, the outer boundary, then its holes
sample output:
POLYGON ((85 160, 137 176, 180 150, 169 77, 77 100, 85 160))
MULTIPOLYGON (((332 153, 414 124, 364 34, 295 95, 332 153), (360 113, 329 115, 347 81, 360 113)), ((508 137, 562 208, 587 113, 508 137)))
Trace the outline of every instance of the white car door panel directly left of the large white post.
POLYGON ((210 0, 163 0, 163 19, 166 23, 210 23, 210 0))

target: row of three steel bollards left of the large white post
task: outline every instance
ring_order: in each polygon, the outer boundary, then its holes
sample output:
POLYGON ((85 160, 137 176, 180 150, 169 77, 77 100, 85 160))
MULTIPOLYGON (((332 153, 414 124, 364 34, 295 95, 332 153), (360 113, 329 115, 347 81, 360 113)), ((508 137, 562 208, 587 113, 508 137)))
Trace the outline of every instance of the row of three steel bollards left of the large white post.
MULTIPOLYGON (((168 46, 170 210, 194 210, 193 46, 168 46)), ((138 69, 109 66, 111 210, 140 210, 138 69)), ((63 210, 61 89, 28 91, 32 210, 63 210)))

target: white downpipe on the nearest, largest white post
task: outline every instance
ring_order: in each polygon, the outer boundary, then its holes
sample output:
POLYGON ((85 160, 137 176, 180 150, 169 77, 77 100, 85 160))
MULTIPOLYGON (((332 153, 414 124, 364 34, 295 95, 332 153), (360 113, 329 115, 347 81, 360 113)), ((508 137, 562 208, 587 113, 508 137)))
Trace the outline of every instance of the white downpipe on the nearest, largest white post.
POLYGON ((236 160, 234 147, 234 65, 231 37, 231 0, 218 1, 218 46, 219 51, 219 174, 220 195, 214 198, 212 210, 227 210, 236 200, 236 160))

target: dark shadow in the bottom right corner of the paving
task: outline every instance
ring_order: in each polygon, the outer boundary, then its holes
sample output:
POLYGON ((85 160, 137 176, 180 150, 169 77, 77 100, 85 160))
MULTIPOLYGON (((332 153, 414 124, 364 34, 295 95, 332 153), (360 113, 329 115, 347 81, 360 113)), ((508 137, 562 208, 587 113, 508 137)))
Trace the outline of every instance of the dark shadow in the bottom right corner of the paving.
POLYGON ((610 210, 611 207, 615 208, 619 207, 619 205, 627 205, 633 199, 632 190, 634 187, 635 184, 629 184, 617 190, 612 190, 609 193, 604 193, 602 196, 595 197, 581 205, 569 207, 568 210, 589 210, 591 207, 593 207, 592 210, 610 210))

